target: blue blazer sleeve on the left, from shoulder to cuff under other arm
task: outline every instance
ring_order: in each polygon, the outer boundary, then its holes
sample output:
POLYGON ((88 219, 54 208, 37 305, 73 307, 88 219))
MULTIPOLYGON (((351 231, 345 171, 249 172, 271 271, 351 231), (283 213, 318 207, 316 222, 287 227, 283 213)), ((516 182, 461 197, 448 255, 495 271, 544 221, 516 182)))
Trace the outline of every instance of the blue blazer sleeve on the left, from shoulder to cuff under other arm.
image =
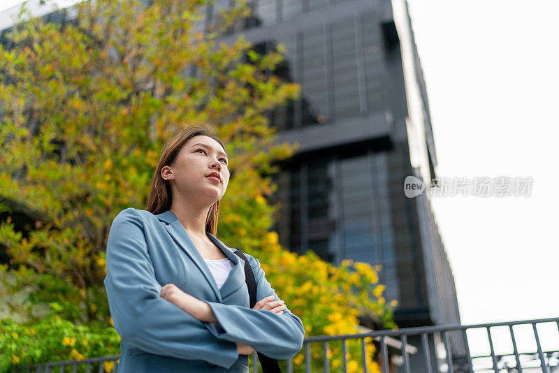
POLYGON ((148 353, 226 368, 235 363, 239 354, 234 342, 214 337, 205 323, 161 298, 143 219, 132 207, 112 221, 106 263, 110 314, 122 342, 148 353))

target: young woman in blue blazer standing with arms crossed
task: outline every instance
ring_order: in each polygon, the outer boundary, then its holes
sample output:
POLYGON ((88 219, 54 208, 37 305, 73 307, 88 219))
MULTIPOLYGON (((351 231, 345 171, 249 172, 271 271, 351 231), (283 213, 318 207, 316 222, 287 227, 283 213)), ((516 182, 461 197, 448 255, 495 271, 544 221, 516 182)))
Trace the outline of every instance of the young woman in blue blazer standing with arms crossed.
POLYGON ((217 239, 229 180, 225 146, 209 126, 166 145, 147 210, 112 221, 105 286, 121 337, 119 373, 248 372, 254 349, 292 358, 305 329, 245 254, 256 279, 251 309, 244 264, 217 239))

